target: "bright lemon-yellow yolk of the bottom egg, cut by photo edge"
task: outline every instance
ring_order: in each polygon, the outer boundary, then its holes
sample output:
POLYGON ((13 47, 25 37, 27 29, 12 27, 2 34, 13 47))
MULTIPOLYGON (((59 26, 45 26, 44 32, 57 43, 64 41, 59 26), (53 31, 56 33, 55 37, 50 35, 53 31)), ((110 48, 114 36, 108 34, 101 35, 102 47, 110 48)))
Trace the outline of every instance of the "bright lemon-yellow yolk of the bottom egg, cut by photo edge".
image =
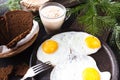
POLYGON ((94 68, 86 68, 82 73, 83 80, 100 80, 99 72, 94 68))

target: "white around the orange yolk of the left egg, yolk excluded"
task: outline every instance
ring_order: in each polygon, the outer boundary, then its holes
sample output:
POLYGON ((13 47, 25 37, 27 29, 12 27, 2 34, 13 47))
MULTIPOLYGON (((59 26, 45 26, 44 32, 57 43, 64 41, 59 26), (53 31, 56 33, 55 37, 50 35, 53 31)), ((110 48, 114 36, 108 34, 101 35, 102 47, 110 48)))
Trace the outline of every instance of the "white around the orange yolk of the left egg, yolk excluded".
MULTIPOLYGON (((55 40, 55 39, 52 39, 55 40)), ((68 58, 70 54, 70 50, 62 43, 60 40, 55 40, 58 42, 58 49, 53 54, 47 54, 42 50, 42 47, 40 46, 37 51, 37 59, 42 62, 50 62, 53 66, 57 65, 58 63, 63 63, 65 59, 68 58)))

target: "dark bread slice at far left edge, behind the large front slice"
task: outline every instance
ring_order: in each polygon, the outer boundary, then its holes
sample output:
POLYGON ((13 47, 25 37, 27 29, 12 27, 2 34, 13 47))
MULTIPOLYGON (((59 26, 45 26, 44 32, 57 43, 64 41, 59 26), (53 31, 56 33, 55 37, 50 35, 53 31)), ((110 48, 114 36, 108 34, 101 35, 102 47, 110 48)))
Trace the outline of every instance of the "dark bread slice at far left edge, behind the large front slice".
POLYGON ((0 16, 0 44, 5 45, 9 42, 8 28, 4 16, 0 16))

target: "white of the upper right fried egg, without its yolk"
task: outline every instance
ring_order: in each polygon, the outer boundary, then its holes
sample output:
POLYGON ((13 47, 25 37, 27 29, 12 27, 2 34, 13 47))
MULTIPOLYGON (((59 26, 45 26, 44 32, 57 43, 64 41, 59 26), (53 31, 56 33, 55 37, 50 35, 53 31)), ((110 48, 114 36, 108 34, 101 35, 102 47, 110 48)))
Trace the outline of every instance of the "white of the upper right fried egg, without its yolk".
POLYGON ((90 55, 96 53, 101 47, 94 49, 89 48, 85 42, 88 36, 93 35, 86 32, 70 31, 56 34, 51 39, 60 40, 68 45, 72 53, 77 53, 75 55, 90 55))

